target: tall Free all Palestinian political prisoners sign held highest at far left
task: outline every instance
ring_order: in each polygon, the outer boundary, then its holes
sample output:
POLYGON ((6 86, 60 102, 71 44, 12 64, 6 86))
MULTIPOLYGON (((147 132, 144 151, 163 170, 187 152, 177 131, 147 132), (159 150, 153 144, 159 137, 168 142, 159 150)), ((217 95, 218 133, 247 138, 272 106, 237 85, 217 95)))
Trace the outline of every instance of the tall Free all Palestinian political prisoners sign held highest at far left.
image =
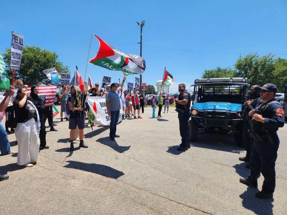
POLYGON ((24 36, 12 31, 10 69, 13 70, 20 69, 23 44, 24 44, 24 36))

